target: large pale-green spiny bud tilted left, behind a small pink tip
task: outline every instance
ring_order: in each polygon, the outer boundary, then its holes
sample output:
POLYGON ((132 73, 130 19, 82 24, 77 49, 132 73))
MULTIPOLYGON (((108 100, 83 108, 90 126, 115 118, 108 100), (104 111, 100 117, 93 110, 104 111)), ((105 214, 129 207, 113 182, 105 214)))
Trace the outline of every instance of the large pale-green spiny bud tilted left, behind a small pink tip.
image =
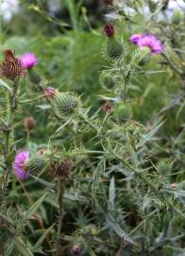
POLYGON ((79 106, 79 99, 73 92, 57 92, 50 102, 59 119, 69 118, 76 113, 79 106))

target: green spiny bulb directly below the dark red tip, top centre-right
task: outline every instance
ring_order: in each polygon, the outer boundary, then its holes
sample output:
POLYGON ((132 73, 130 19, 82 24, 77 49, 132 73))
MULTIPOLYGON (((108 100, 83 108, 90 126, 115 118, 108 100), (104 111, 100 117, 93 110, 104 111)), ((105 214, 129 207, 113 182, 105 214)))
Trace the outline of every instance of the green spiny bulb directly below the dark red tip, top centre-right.
POLYGON ((106 55, 110 60, 119 59, 124 53, 124 46, 118 39, 111 37, 107 40, 106 55))

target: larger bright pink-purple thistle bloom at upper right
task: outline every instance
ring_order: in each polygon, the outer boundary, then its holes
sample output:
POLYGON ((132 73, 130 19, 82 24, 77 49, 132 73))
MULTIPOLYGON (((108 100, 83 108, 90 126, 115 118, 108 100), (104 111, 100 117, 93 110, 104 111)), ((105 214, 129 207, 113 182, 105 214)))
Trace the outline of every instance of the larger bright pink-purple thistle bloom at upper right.
POLYGON ((164 46, 160 42, 160 39, 152 34, 143 34, 137 45, 140 48, 148 47, 153 54, 160 54, 164 49, 164 46))

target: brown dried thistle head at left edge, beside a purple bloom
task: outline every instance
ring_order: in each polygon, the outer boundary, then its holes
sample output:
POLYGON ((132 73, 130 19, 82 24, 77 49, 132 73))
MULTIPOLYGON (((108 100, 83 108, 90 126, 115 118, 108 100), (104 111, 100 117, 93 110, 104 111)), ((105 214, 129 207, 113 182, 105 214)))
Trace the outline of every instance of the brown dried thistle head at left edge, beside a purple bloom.
POLYGON ((23 72, 21 61, 17 59, 10 49, 5 49, 4 61, 0 64, 0 77, 14 81, 23 72))

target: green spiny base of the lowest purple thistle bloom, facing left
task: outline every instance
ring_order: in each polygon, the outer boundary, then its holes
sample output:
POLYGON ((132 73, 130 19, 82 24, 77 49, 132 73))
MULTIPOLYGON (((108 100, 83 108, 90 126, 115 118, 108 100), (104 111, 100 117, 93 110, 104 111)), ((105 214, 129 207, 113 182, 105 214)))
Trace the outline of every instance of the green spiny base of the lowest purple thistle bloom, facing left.
POLYGON ((32 155, 25 160, 24 169, 30 174, 39 173, 43 170, 46 164, 44 155, 32 155))

